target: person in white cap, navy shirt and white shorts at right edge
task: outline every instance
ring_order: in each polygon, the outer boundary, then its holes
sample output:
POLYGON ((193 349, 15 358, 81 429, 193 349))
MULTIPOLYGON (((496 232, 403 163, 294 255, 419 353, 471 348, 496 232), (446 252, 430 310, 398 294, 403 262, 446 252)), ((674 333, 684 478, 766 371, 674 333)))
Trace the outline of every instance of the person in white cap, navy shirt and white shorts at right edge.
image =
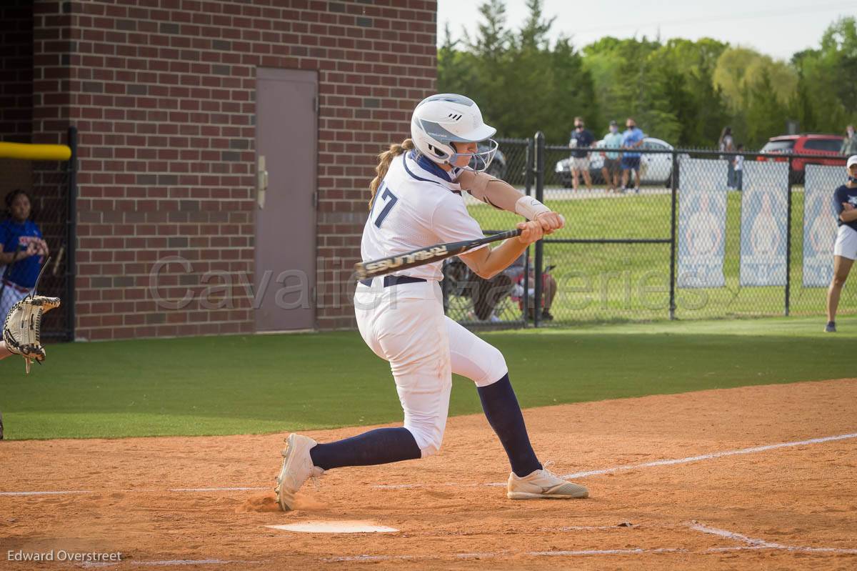
POLYGON ((857 259, 857 154, 848 159, 848 183, 842 184, 833 194, 836 207, 836 245, 833 247, 833 279, 827 290, 827 333, 836 332, 836 308, 842 285, 857 259))

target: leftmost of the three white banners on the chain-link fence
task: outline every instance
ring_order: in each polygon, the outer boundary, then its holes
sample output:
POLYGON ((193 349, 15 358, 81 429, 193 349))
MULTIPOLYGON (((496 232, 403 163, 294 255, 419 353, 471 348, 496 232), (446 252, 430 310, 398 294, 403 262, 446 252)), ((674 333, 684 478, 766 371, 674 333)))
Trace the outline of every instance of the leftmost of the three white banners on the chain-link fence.
POLYGON ((722 287, 726 243, 725 160, 679 162, 679 287, 722 287))

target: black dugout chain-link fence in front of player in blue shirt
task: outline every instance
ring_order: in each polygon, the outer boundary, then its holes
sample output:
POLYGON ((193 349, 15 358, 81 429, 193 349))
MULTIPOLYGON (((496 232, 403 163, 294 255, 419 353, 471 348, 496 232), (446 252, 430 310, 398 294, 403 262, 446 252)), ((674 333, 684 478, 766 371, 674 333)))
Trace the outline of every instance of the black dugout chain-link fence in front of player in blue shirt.
POLYGON ((50 257, 38 293, 61 298, 63 304, 45 315, 45 340, 74 339, 75 139, 72 129, 70 160, 0 159, 0 244, 5 254, 0 260, 0 322, 33 291, 50 257))

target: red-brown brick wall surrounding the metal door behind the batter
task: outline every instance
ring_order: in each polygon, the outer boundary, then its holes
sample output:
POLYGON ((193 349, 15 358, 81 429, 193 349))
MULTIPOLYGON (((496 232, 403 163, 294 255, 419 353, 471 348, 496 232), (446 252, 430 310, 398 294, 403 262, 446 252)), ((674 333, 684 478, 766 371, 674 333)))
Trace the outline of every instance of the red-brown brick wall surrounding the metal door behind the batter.
MULTIPOLYGON (((79 129, 77 335, 93 340, 250 332, 194 299, 201 274, 252 283, 257 66, 319 73, 319 328, 353 327, 345 280, 359 255, 375 154, 409 130, 435 84, 435 1, 37 0, 33 125, 79 129), (339 292, 339 293, 336 293, 339 292)), ((307 189, 312 192, 313 189, 307 189)))

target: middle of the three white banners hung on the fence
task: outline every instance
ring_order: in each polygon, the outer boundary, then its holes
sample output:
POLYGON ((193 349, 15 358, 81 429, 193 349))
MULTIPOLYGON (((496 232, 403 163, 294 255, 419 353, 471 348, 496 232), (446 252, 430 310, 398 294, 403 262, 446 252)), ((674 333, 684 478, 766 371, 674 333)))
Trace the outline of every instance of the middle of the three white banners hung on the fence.
POLYGON ((786 285, 788 163, 744 163, 740 285, 786 285))

